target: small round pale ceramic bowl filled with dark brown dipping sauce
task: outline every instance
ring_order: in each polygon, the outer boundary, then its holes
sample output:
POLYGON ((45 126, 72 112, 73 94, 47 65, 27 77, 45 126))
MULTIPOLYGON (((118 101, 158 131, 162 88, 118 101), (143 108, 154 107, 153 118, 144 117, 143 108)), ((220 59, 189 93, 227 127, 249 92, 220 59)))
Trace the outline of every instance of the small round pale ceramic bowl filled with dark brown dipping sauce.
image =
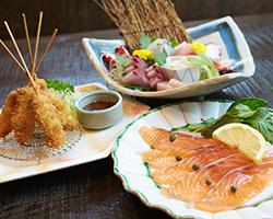
POLYGON ((85 93, 75 102, 80 124, 84 128, 103 129, 122 118, 122 96, 111 90, 85 93))

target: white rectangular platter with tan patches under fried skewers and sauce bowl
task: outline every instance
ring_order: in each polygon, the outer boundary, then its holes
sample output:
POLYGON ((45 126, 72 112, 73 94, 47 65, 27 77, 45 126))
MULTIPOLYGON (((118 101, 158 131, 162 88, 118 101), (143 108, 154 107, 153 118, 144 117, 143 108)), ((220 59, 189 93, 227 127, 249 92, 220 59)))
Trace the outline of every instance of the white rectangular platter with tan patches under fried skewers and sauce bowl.
MULTIPOLYGON (((99 83, 91 83, 75 88, 78 95, 93 90, 106 89, 99 83)), ((103 130, 83 130, 79 143, 60 157, 54 157, 41 162, 26 163, 10 162, 0 157, 0 183, 29 177, 41 173, 57 171, 78 164, 83 164, 106 158, 110 154, 116 137, 136 116, 147 112, 150 107, 128 96, 123 96, 124 116, 117 125, 103 130)))

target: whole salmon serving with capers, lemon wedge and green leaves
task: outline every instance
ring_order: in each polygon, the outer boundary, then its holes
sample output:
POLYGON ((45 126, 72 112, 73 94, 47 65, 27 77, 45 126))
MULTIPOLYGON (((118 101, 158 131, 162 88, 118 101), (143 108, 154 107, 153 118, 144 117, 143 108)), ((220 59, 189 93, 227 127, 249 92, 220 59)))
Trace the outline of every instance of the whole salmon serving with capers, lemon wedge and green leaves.
POLYGON ((234 102, 218 118, 166 130, 142 126, 143 164, 166 198, 211 212, 244 206, 273 181, 273 110, 234 102))

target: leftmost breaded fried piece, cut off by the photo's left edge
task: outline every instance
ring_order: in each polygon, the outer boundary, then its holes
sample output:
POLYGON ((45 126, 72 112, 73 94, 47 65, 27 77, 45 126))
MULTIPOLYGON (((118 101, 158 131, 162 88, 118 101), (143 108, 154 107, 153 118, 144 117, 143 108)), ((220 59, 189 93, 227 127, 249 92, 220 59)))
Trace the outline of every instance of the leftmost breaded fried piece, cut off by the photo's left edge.
POLYGON ((0 138, 5 137, 12 130, 11 114, 15 103, 16 103, 16 91, 12 91, 8 95, 7 103, 2 108, 2 113, 0 114, 0 138))

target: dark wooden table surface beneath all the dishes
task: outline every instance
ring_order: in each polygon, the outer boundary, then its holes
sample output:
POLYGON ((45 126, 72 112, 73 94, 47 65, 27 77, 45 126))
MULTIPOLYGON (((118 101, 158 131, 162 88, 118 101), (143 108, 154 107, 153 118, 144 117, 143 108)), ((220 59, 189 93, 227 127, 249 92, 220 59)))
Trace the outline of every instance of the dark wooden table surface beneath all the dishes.
MULTIPOLYGON (((210 97, 239 99, 259 96, 273 107, 273 14, 235 19, 254 57, 253 78, 211 94, 210 97)), ((192 26, 200 22, 188 22, 192 26)), ((201 22, 202 23, 202 22, 201 22)), ((12 26, 12 24, 10 24, 12 26)), ((39 76, 61 79, 74 85, 102 79, 92 67, 81 44, 82 37, 117 38, 117 30, 58 36, 39 76)), ((25 39, 19 41, 26 53, 25 39)), ((40 47, 47 37, 41 37, 40 47)), ((5 95, 21 87, 26 78, 0 50, 0 105, 5 95)), ((155 101, 143 100, 156 105, 155 101)), ((167 101, 165 101, 167 102, 167 101)), ((1 175, 1 173, 0 173, 1 175)), ((0 185, 0 218, 168 218, 145 207, 122 188, 112 173, 112 160, 100 161, 0 185)))

